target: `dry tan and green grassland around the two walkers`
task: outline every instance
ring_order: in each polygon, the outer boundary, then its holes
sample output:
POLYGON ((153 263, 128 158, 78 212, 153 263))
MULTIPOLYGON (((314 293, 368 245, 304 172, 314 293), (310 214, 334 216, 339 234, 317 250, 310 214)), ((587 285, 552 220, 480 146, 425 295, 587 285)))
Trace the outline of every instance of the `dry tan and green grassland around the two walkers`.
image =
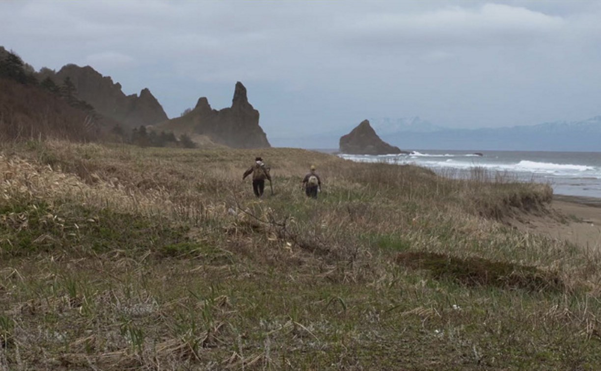
POLYGON ((599 254, 502 223, 551 198, 301 149, 5 143, 0 369, 595 369, 599 254))

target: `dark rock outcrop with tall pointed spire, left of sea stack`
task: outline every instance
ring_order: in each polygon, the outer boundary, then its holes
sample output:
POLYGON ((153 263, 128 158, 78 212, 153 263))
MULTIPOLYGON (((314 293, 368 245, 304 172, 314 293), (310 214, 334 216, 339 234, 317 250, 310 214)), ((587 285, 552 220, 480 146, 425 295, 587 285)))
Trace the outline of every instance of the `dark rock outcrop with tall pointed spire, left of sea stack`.
POLYGON ((177 134, 201 134, 215 143, 233 148, 269 147, 267 136, 259 126, 259 112, 248 103, 246 88, 236 83, 231 107, 212 109, 205 97, 198 99, 191 112, 162 122, 154 130, 173 131, 177 134))

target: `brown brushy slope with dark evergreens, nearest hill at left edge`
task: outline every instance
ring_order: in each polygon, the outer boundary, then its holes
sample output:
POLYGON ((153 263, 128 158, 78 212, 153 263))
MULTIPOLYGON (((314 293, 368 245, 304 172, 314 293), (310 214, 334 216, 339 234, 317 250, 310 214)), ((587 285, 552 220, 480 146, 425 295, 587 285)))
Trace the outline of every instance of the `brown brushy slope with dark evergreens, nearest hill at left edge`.
POLYGON ((104 118, 91 104, 79 99, 69 77, 59 85, 48 76, 39 81, 43 70, 36 76, 34 68, 19 55, 0 47, 0 137, 112 139, 139 146, 195 148, 188 134, 175 137, 174 133, 147 130, 144 125, 126 133, 119 122, 104 118), (100 129, 107 125, 112 125, 112 130, 101 138, 100 129))

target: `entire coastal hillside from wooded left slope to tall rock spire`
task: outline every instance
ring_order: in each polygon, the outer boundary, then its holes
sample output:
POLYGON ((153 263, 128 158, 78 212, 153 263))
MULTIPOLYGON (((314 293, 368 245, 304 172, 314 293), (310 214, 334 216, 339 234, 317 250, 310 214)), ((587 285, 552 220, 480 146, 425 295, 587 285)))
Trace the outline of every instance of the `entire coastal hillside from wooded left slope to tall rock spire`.
POLYGON ((120 83, 89 65, 67 64, 58 72, 45 67, 35 71, 0 46, 0 79, 7 80, 0 92, 0 113, 5 113, 2 117, 6 123, 2 131, 7 138, 41 135, 153 144, 152 140, 138 140, 139 128, 144 126, 151 128, 149 136, 153 137, 177 134, 180 139, 171 145, 270 146, 258 123, 259 112, 249 103, 240 82, 236 83, 231 107, 212 109, 203 97, 186 115, 170 120, 149 89, 142 89, 139 95, 125 95, 120 83))

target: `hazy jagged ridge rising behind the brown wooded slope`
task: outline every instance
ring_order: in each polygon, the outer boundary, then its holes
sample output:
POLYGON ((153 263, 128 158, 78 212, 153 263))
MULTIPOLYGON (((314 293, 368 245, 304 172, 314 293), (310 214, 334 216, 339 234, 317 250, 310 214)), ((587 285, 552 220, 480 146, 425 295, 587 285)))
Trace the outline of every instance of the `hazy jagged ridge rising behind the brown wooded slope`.
POLYGON ((90 66, 67 64, 50 77, 58 85, 69 77, 79 99, 91 104, 101 115, 120 122, 125 128, 152 125, 168 119, 150 90, 142 89, 139 96, 125 95, 120 83, 113 83, 111 77, 102 76, 90 66))

